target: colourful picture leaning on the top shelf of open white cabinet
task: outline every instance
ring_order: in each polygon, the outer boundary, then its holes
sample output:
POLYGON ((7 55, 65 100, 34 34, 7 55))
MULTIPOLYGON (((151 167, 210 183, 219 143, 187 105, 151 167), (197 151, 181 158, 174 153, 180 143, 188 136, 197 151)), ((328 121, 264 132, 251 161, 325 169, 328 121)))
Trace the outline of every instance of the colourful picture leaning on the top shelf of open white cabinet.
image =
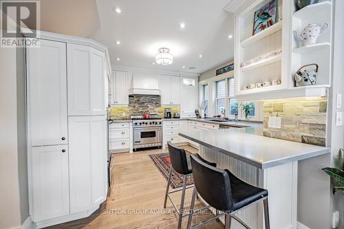
POLYGON ((277 14, 277 0, 270 0, 263 7, 255 12, 253 19, 253 32, 255 35, 262 30, 274 25, 276 23, 277 14))

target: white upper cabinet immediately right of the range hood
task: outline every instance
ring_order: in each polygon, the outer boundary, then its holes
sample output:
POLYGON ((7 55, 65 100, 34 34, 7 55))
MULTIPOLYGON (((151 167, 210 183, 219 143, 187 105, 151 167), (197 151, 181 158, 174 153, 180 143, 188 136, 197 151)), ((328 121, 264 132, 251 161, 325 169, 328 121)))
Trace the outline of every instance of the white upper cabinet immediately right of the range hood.
POLYGON ((161 76, 161 104, 180 105, 180 77, 161 76))

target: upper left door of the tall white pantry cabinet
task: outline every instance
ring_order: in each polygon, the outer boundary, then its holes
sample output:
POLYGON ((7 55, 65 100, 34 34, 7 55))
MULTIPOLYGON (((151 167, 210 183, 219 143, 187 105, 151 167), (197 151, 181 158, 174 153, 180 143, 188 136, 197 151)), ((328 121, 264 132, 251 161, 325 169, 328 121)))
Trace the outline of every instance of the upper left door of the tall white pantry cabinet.
POLYGON ((28 113, 31 146, 66 144, 66 44, 40 40, 28 47, 28 113))

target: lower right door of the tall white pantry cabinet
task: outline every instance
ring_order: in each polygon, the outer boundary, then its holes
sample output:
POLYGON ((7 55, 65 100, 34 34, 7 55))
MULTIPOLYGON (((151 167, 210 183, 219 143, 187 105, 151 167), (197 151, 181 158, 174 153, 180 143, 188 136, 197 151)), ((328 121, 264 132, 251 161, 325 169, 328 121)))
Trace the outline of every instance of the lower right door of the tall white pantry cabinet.
POLYGON ((106 199, 106 120, 71 116, 68 122, 70 212, 76 213, 106 199))

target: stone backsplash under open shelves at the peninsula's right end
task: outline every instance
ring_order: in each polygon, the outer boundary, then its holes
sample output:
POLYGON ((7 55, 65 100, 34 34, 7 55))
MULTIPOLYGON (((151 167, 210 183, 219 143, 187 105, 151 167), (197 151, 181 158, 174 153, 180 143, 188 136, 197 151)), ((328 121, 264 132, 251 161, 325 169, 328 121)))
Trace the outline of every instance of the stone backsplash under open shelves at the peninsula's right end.
POLYGON ((264 100, 264 136, 325 146, 327 97, 264 100), (281 117, 281 129, 269 128, 269 116, 281 117))

